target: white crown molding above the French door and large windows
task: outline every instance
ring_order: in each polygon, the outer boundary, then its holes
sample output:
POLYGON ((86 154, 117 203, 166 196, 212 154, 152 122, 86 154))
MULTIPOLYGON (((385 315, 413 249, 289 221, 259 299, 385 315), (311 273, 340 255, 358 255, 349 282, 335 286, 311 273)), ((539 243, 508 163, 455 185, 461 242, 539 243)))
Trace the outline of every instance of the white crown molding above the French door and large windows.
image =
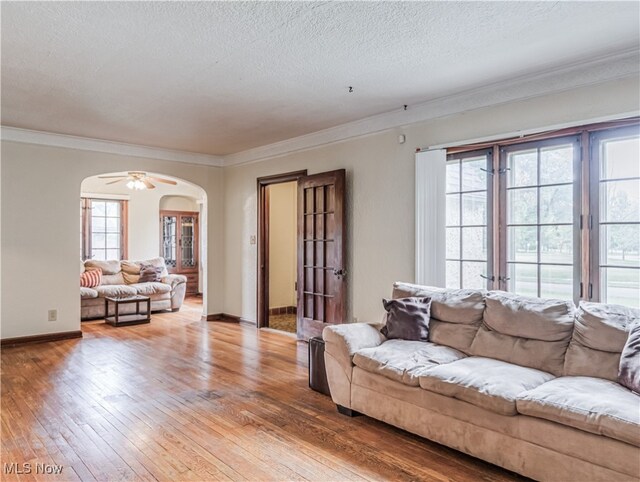
POLYGON ((637 76, 640 73, 639 57, 640 49, 633 48, 614 55, 575 62, 561 68, 496 82, 412 105, 406 111, 397 109, 266 146, 229 154, 224 156, 224 165, 225 167, 237 166, 265 161, 292 152, 424 122, 438 117, 637 76))

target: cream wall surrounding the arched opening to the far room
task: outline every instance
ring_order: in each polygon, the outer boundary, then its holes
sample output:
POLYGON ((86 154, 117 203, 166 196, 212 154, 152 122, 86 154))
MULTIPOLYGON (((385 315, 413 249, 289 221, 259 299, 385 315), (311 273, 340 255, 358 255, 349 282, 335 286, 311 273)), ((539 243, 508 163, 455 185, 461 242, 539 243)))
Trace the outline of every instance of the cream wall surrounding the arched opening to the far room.
MULTIPOLYGON (((80 329, 78 198, 83 179, 141 170, 175 176, 206 192, 204 302, 223 306, 223 176, 216 167, 2 142, 2 338, 80 329), (47 321, 47 310, 58 321, 47 321)), ((137 248, 136 248, 137 249, 137 248)))

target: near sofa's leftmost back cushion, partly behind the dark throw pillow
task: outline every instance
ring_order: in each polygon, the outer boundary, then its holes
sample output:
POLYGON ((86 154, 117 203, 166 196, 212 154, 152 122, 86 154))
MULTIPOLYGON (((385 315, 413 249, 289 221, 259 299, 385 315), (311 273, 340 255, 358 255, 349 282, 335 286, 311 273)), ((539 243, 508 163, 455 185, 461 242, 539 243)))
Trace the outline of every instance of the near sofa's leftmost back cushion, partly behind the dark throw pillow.
POLYGON ((396 282, 393 298, 431 298, 429 341, 469 353, 484 312, 485 292, 396 282))

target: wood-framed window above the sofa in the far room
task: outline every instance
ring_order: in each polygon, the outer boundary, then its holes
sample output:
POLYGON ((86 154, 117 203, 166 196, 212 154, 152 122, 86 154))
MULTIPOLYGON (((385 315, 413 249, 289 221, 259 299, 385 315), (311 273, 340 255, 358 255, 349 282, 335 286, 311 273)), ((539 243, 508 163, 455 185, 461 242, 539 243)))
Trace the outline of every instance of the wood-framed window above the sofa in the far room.
POLYGON ((125 259, 127 201, 82 199, 83 259, 125 259))

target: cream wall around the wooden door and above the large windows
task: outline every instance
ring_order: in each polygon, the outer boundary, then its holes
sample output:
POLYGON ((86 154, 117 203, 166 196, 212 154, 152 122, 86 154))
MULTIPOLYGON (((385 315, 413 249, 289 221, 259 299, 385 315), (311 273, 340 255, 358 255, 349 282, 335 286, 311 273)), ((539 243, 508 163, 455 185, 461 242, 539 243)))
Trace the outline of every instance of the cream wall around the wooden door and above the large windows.
POLYGON ((225 168, 225 313, 256 319, 256 178, 347 170, 348 320, 378 321, 391 284, 414 279, 417 147, 637 111, 639 91, 638 79, 626 78, 225 168))

